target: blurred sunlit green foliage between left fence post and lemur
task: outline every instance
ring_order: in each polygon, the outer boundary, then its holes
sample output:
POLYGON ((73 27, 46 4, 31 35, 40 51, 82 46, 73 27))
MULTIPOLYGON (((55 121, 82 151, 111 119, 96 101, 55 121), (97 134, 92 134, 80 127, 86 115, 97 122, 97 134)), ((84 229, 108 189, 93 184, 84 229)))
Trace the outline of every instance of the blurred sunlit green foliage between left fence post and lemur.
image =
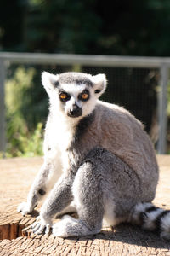
MULTIPOLYGON (((8 79, 5 86, 7 157, 42 154, 42 123, 33 125, 29 122, 31 109, 28 106, 31 107, 31 96, 28 92, 34 75, 34 68, 18 67, 14 77, 8 79)), ((33 116, 32 112, 31 115, 33 116)))

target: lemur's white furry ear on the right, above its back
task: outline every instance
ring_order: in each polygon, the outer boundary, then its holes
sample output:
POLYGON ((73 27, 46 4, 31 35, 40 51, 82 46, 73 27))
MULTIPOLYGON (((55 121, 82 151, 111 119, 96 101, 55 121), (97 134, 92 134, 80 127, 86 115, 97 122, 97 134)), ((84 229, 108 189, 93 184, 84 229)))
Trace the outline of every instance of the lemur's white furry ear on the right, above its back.
POLYGON ((94 83, 94 93, 97 97, 101 96, 106 88, 106 78, 104 73, 99 73, 92 77, 92 81, 94 83))

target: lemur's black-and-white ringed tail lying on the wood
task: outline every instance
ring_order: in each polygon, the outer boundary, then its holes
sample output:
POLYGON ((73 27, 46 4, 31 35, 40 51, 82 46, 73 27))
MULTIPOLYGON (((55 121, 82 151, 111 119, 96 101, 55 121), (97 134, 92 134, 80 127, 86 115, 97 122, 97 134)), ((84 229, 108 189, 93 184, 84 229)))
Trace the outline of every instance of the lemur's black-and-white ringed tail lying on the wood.
POLYGON ((144 230, 158 231, 161 238, 170 240, 170 210, 155 207, 151 203, 139 203, 134 207, 132 222, 144 230))

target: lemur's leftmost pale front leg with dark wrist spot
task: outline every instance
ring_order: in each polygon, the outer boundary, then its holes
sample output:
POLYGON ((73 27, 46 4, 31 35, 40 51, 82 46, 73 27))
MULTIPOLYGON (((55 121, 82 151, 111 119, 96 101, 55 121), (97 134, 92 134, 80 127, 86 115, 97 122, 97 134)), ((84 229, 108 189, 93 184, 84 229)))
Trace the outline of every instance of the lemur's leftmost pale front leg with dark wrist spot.
POLYGON ((37 206, 37 202, 41 201, 44 195, 48 193, 48 190, 54 186, 57 180, 55 175, 56 169, 58 169, 59 161, 46 159, 39 170, 37 177, 31 185, 30 192, 27 196, 27 202, 22 202, 18 207, 18 212, 22 215, 33 211, 37 206))

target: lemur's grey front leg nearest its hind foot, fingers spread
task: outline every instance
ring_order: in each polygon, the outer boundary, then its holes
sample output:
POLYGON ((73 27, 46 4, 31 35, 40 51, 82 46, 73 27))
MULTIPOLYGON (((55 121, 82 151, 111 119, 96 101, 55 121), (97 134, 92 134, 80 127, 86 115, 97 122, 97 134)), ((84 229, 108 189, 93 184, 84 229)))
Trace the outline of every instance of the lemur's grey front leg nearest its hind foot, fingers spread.
POLYGON ((64 173, 59 178, 42 205, 39 220, 32 225, 32 231, 34 233, 41 234, 44 230, 48 233, 56 214, 62 212, 65 207, 71 204, 73 200, 71 193, 73 180, 74 177, 70 172, 64 173))

